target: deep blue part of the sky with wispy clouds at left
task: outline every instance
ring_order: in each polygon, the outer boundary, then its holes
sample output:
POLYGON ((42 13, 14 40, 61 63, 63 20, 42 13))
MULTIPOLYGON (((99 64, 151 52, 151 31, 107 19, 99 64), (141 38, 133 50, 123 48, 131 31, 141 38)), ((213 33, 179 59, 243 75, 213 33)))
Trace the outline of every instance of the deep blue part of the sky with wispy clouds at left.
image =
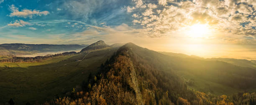
POLYGON ((60 39, 72 38, 70 35, 88 30, 90 25, 100 28, 131 23, 131 18, 122 9, 131 3, 128 0, 0 1, 0 37, 6 39, 1 43, 33 43, 31 39, 35 39, 34 43, 44 43, 43 39, 50 38, 49 43, 57 44, 60 39), (59 39, 53 40, 54 37, 59 39))

